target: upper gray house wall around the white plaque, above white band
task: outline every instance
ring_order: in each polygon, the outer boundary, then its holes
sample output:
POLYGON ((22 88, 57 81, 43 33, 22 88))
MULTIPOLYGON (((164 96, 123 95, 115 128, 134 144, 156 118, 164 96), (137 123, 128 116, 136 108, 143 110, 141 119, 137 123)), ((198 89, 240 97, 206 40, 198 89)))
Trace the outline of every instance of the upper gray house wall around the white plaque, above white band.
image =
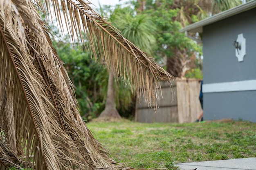
POLYGON ((256 79, 256 9, 203 27, 204 83, 256 79), (243 33, 246 56, 238 62, 233 42, 243 33))

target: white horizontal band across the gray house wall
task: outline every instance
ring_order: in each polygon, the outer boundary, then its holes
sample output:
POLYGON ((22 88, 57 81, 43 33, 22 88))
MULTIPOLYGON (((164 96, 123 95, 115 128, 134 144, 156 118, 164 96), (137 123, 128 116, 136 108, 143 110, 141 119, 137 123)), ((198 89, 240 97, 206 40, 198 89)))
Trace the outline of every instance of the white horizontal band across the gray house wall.
POLYGON ((231 92, 231 91, 255 91, 256 79, 244 80, 238 82, 223 82, 203 84, 203 93, 231 92))

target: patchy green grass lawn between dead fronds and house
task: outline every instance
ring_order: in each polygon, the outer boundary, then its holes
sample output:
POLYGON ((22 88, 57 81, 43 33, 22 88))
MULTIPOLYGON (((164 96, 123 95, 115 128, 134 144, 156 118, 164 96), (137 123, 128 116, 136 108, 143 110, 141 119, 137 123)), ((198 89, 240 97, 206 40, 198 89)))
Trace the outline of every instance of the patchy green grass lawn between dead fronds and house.
POLYGON ((132 168, 168 168, 181 162, 256 157, 256 123, 206 121, 186 124, 90 122, 110 156, 132 168))

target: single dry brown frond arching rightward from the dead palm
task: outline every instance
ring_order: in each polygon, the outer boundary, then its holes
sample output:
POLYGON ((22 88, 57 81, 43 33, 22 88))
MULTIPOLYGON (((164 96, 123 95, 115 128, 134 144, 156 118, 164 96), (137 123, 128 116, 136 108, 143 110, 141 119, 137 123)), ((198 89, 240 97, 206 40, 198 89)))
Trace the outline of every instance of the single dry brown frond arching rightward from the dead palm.
MULTIPOLYGON (((143 94, 148 104, 156 106, 159 92, 159 80, 170 81, 173 77, 163 68, 157 66, 152 58, 126 40, 114 26, 98 15, 85 0, 46 0, 47 7, 38 4, 47 13, 55 14, 59 28, 66 27, 70 37, 75 41, 87 33, 90 48, 94 56, 114 71, 115 77, 128 76, 128 84, 134 85, 139 97, 143 94), (54 9, 51 11, 51 6, 54 9), (61 17, 63 16, 63 17, 61 17), (64 22, 65 21, 65 22, 64 22), (75 31, 74 31, 75 30, 75 31), (95 46, 95 42, 96 46, 95 46), (101 49, 101 50, 97 50, 101 49), (97 52, 99 51, 99 55, 97 52)), ((83 39, 81 39, 83 42, 83 39)))

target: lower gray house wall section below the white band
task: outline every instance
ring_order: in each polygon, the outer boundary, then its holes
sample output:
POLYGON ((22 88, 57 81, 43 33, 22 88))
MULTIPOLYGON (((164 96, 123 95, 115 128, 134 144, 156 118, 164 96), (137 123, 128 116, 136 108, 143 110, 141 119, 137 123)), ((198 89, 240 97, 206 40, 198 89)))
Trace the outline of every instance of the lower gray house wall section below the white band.
POLYGON ((256 91, 204 94, 204 119, 243 119, 256 122, 256 91))

